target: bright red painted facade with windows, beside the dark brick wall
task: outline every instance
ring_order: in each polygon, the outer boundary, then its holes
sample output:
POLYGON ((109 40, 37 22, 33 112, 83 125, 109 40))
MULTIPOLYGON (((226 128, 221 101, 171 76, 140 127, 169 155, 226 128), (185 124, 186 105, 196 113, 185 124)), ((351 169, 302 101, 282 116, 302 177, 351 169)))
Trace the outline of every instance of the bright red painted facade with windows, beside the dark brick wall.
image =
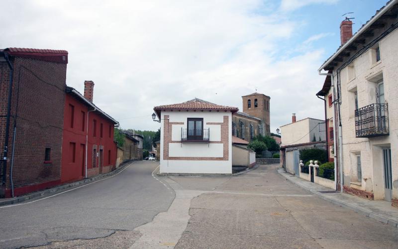
POLYGON ((64 109, 61 181, 71 182, 115 168, 114 122, 82 100, 67 93, 64 109), (87 135, 87 136, 86 136, 87 135), (86 151, 86 144, 87 151, 86 151))

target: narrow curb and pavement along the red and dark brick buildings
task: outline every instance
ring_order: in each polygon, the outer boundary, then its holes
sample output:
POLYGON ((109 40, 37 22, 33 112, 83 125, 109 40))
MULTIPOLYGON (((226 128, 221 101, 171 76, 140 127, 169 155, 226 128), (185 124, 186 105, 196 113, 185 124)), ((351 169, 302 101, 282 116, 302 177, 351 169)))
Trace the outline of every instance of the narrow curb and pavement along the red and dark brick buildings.
POLYGON ((130 165, 132 163, 134 163, 135 161, 128 161, 125 163, 122 163, 119 165, 119 167, 113 171, 110 171, 108 173, 105 174, 101 174, 101 175, 97 175, 91 178, 86 178, 77 182, 72 182, 72 183, 68 183, 68 184, 64 184, 64 185, 59 185, 50 189, 45 189, 45 190, 40 190, 40 191, 36 191, 36 192, 32 192, 30 194, 26 194, 26 195, 21 195, 21 196, 17 196, 17 197, 13 197, 13 198, 9 198, 8 200, 0 200, 0 206, 7 206, 7 205, 11 205, 11 204, 17 204, 17 203, 21 203, 24 201, 28 201, 37 197, 45 197, 45 196, 50 196, 53 194, 56 194, 58 192, 60 192, 61 190, 66 190, 66 189, 71 189, 73 187, 77 187, 77 186, 81 186, 81 185, 86 185, 88 183, 91 182, 95 182, 97 180, 106 178, 108 176, 114 175, 116 173, 118 173, 120 170, 124 169, 127 165, 130 165))

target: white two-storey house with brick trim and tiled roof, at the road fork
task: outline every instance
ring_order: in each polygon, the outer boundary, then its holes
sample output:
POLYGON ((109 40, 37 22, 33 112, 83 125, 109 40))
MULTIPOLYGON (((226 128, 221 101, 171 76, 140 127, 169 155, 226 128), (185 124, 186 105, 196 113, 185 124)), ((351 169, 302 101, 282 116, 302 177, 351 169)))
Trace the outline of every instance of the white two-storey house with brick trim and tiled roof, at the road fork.
POLYGON ((160 119, 160 173, 232 173, 232 114, 200 99, 154 108, 160 119))

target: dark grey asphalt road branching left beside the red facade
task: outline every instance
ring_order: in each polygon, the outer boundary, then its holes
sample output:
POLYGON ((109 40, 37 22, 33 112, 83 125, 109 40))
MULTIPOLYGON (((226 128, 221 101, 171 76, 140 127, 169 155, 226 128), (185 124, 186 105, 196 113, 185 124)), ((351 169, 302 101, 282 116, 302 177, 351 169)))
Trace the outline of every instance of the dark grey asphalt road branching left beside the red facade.
POLYGON ((0 248, 103 238, 152 221, 175 194, 151 173, 158 163, 136 161, 119 174, 36 202, 0 208, 0 248))

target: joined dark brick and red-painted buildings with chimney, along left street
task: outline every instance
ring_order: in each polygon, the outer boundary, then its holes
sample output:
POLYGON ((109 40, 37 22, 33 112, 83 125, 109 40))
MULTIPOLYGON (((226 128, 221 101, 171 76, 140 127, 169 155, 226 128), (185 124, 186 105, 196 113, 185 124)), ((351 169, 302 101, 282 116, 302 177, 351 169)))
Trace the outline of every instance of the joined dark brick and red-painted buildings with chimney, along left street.
POLYGON ((114 168, 118 123, 92 103, 93 82, 87 99, 66 86, 67 63, 65 50, 0 50, 0 197, 114 168))

